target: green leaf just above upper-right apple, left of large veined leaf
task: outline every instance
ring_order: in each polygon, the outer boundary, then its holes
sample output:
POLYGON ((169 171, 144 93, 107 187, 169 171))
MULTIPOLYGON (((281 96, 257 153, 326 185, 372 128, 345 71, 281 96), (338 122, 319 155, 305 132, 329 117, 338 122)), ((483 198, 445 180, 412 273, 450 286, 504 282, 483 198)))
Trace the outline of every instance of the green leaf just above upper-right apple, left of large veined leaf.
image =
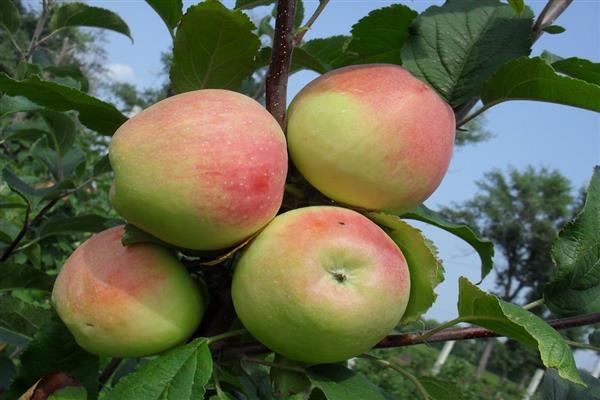
POLYGON ((401 50, 417 13, 393 4, 371 11, 352 26, 344 64, 402 64, 401 50))

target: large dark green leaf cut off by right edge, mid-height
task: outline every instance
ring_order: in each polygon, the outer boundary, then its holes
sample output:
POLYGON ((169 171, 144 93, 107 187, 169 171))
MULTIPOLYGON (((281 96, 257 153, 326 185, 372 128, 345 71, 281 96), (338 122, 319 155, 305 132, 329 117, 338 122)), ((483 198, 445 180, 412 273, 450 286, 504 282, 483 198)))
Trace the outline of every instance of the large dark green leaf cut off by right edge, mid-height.
POLYGON ((552 245, 555 277, 544 288, 558 316, 600 312, 600 167, 594 168, 585 204, 552 245))

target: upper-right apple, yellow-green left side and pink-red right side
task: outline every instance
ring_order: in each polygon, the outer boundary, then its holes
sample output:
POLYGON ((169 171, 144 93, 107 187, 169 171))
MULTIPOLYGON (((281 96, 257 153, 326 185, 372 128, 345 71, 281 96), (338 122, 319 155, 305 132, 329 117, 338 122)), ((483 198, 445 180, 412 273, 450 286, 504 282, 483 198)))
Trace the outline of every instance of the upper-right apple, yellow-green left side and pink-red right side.
POLYGON ((402 67, 328 72, 293 100, 290 157, 329 198, 370 210, 408 211, 440 184, 452 156, 454 113, 402 67))

